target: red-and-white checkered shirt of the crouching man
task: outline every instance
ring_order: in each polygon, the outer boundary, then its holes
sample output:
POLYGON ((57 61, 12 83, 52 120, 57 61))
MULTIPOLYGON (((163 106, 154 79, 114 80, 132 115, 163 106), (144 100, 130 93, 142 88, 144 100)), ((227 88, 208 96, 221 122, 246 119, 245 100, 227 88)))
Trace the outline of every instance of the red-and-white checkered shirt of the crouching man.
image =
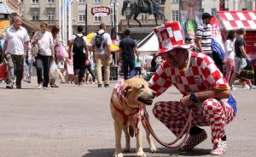
POLYGON ((191 53, 187 70, 171 68, 164 61, 148 84, 158 96, 172 85, 177 87, 177 90, 184 96, 210 89, 226 90, 230 88, 214 61, 204 53, 191 53))

